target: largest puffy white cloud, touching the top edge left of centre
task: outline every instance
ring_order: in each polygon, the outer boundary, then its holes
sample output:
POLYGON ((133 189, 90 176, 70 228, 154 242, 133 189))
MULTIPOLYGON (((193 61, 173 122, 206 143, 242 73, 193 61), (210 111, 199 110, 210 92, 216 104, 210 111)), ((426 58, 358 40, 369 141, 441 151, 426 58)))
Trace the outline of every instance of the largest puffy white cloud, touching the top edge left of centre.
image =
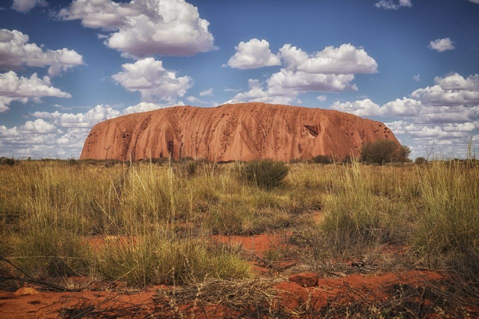
POLYGON ((58 16, 110 31, 105 44, 127 57, 189 56, 215 49, 210 22, 184 0, 73 0, 58 16))

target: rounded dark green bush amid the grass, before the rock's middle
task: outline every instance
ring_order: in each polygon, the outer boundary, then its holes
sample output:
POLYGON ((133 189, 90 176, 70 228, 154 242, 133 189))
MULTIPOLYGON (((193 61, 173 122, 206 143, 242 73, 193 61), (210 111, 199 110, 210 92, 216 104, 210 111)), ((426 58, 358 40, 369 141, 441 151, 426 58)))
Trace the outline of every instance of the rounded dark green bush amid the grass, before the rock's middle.
POLYGON ((252 160, 243 166, 246 181, 266 189, 281 184, 288 171, 284 162, 274 160, 252 160))

